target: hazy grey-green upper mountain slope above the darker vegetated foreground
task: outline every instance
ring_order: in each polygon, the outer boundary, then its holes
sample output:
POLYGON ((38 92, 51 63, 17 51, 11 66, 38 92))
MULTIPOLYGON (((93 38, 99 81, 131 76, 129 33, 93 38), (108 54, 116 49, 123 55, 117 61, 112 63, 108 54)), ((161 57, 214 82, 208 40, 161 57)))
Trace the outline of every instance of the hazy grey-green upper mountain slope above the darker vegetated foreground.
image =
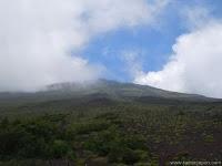
POLYGON ((184 94, 164 91, 147 85, 120 83, 115 81, 99 80, 93 83, 59 83, 52 84, 36 93, 0 93, 0 104, 9 102, 46 102, 67 98, 110 98, 110 100, 142 100, 149 98, 176 100, 190 102, 214 102, 196 94, 184 94))

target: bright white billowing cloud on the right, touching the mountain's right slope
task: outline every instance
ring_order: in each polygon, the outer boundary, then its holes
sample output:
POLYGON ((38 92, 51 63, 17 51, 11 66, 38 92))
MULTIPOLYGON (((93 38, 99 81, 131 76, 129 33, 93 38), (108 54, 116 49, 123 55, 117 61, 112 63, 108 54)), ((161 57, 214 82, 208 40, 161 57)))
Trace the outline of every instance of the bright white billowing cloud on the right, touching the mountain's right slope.
POLYGON ((164 90, 222 97, 220 21, 179 37, 172 49, 173 54, 161 71, 141 72, 134 82, 164 90))

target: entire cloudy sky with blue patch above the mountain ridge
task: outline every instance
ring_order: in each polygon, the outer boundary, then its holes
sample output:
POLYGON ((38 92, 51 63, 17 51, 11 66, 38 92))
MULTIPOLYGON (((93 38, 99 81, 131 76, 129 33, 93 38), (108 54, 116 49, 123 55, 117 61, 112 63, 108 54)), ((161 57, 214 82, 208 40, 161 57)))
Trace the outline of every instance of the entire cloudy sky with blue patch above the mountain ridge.
POLYGON ((221 0, 0 0, 0 92, 117 80, 222 97, 221 0))

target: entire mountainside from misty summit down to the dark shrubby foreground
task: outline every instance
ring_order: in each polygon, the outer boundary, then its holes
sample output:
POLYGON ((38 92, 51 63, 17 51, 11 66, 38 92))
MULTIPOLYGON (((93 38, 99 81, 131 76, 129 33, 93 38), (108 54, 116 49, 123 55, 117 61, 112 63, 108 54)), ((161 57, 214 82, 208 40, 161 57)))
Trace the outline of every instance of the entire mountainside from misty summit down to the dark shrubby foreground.
POLYGON ((222 102, 100 80, 0 94, 0 166, 221 160, 222 102))

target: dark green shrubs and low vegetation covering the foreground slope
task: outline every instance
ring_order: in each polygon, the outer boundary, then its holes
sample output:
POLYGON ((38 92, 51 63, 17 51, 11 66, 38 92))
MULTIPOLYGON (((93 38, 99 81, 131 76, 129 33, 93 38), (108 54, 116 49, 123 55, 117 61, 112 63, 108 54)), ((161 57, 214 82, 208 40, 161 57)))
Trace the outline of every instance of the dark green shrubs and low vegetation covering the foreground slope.
POLYGON ((0 165, 155 166, 221 159, 220 103, 101 103, 59 110, 43 103, 2 112, 0 165))

